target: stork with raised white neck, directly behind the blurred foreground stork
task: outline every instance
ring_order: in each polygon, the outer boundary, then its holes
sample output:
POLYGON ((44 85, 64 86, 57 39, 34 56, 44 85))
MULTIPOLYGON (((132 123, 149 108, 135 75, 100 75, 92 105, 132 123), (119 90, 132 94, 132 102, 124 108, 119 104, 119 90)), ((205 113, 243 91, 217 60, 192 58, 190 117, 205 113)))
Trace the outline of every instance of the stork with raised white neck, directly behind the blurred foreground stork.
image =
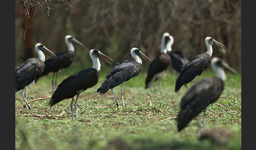
MULTIPOLYGON (((175 83, 175 92, 178 92, 182 85, 189 83, 190 81, 196 81, 196 78, 201 75, 201 73, 210 66, 212 57, 212 45, 216 44, 221 49, 225 46, 220 42, 216 41, 212 37, 205 38, 205 45, 207 51, 201 55, 195 56, 189 63, 182 68, 182 71, 175 83)), ((187 86, 186 86, 187 87, 187 86)), ((187 87, 188 88, 188 87, 187 87)))

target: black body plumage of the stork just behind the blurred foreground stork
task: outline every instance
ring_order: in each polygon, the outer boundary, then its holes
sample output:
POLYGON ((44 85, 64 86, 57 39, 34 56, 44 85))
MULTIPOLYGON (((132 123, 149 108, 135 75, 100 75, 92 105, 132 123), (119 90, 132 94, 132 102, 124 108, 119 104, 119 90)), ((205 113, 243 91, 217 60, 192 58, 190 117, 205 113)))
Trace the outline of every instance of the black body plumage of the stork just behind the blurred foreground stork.
POLYGON ((175 91, 179 91, 182 85, 189 83, 196 76, 200 76, 201 73, 210 66, 211 56, 207 53, 195 56, 189 63, 182 68, 179 77, 176 79, 175 91))

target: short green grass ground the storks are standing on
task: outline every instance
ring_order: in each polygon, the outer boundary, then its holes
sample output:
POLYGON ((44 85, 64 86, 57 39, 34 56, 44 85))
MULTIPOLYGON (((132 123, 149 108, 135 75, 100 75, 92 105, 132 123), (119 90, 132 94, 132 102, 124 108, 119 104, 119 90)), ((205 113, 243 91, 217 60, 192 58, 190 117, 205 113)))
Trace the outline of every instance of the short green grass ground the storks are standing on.
MULTIPOLYGON (((58 74, 58 84, 66 77, 91 66, 72 63, 58 74)), ((72 121, 70 102, 66 99, 52 108, 49 100, 30 103, 32 110, 26 110, 19 93, 15 98, 15 114, 48 115, 43 117, 16 116, 16 149, 241 149, 241 72, 227 73, 225 89, 217 102, 206 110, 206 129, 221 128, 232 132, 225 144, 210 140, 200 141, 196 132, 196 121, 177 132, 175 117, 179 103, 186 92, 182 87, 174 92, 178 74, 168 71, 162 79, 161 91, 156 93, 144 89, 146 69, 139 76, 123 84, 126 106, 114 107, 115 100, 109 90, 103 95, 96 93, 110 67, 100 71, 99 82, 80 94, 78 98, 78 120, 72 121), (152 106, 150 106, 150 101, 152 106), (61 116, 57 114, 65 113, 61 116)), ((104 69, 102 67, 102 69, 104 69)), ((198 78, 214 76, 207 69, 198 78)), ((40 79, 27 88, 28 101, 50 97, 52 74, 40 79)), ((157 83, 155 83, 157 88, 157 83)), ((191 86, 192 84, 188 84, 191 86)), ((122 104, 120 86, 114 92, 122 104)), ((199 115, 202 121, 202 115, 199 115)))

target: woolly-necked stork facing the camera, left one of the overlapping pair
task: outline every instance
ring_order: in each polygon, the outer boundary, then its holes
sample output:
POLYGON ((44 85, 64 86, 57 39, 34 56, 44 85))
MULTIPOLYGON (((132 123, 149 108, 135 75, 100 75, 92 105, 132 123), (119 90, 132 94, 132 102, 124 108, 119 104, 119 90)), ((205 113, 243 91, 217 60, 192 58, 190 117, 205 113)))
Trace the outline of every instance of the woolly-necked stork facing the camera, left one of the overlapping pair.
POLYGON ((150 64, 149 70, 147 71, 145 89, 150 88, 152 86, 155 91, 153 83, 156 80, 159 80, 158 85, 160 89, 161 78, 165 76, 166 69, 171 63, 171 58, 168 52, 172 50, 171 46, 173 42, 174 42, 174 38, 169 33, 163 34, 161 51, 160 53, 157 54, 156 58, 152 61, 152 63, 150 64))

